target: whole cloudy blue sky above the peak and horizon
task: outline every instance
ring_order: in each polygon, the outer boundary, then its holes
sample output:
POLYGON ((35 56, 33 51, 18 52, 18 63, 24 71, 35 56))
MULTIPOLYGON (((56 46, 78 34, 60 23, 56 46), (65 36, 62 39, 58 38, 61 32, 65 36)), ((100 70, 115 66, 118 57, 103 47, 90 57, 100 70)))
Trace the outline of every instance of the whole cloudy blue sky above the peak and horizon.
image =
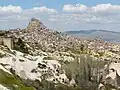
POLYGON ((120 0, 0 1, 0 29, 25 28, 31 18, 57 31, 120 31, 120 0))

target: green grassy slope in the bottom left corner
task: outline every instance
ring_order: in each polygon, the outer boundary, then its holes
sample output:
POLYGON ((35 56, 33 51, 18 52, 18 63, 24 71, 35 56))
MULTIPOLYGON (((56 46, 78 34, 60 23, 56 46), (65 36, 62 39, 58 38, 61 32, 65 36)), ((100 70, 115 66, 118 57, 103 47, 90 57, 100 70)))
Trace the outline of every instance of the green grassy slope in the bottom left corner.
POLYGON ((0 70, 0 84, 8 87, 10 90, 35 90, 33 87, 25 86, 19 78, 0 70))

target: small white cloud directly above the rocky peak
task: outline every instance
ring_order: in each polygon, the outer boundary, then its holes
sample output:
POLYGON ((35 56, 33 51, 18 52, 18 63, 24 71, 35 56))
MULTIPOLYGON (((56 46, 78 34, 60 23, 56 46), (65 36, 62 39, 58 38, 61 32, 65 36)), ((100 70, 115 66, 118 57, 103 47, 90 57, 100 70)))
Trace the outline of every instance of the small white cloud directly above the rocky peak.
POLYGON ((50 8, 47 8, 46 6, 34 7, 32 10, 36 12, 42 12, 42 13, 57 13, 55 9, 50 9, 50 8))

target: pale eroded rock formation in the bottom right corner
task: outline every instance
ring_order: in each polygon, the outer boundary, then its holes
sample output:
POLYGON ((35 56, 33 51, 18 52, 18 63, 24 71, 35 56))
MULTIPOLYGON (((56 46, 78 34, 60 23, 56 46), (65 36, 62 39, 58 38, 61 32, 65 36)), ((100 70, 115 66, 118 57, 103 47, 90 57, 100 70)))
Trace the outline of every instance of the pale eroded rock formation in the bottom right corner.
POLYGON ((120 63, 111 62, 105 65, 99 90, 120 89, 120 63))

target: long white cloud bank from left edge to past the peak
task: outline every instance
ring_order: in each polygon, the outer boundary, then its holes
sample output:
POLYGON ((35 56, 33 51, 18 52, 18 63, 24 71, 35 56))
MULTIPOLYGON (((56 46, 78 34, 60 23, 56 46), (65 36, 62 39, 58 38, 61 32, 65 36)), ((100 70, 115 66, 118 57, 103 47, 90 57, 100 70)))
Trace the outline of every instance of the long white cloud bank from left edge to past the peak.
POLYGON ((31 9, 22 9, 20 6, 0 6, 0 17, 11 17, 14 15, 21 15, 21 16, 34 16, 36 14, 55 14, 57 13, 57 10, 47 8, 46 6, 42 7, 33 7, 31 9))

